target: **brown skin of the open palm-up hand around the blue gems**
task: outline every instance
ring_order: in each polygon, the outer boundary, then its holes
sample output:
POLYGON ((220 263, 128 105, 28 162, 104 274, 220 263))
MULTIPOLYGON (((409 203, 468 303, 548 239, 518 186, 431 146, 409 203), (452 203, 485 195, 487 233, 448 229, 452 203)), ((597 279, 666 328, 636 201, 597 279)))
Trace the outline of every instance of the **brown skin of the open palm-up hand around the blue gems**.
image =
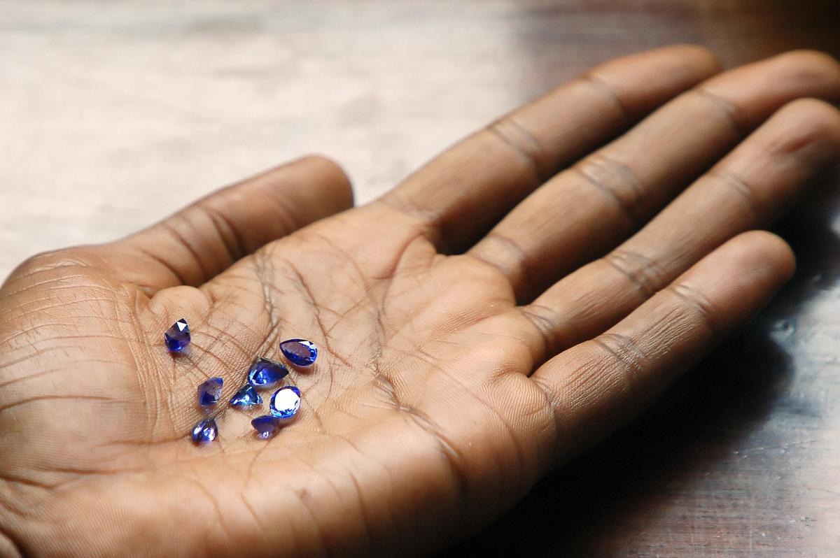
POLYGON ((367 206, 307 158, 25 262, 0 290, 0 555, 423 555, 488 524, 793 273, 758 229, 836 164, 840 65, 719 72, 633 55, 367 206), (224 405, 194 445, 197 383, 228 399, 294 336, 321 350, 297 419, 259 441, 224 405))

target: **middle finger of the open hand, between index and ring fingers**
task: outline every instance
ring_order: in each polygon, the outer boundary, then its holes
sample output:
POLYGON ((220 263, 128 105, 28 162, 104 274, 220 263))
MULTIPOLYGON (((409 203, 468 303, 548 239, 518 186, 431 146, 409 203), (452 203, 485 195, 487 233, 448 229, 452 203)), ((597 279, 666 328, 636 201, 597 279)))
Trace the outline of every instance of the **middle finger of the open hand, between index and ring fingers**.
POLYGON ((470 255, 528 301, 643 225, 776 109, 840 97, 840 66, 795 52, 711 78, 565 170, 508 214, 470 255))

